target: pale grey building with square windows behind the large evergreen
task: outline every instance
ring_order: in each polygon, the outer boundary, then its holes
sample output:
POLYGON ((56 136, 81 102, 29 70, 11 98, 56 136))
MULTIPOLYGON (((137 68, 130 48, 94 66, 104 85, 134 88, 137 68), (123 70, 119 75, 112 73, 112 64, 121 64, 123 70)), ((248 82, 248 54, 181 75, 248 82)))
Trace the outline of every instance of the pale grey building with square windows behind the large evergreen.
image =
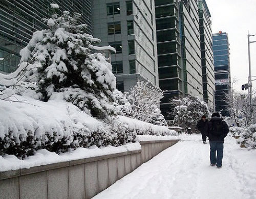
POLYGON ((155 8, 152 0, 94 0, 93 35, 111 45, 117 88, 128 91, 137 80, 158 86, 155 8))

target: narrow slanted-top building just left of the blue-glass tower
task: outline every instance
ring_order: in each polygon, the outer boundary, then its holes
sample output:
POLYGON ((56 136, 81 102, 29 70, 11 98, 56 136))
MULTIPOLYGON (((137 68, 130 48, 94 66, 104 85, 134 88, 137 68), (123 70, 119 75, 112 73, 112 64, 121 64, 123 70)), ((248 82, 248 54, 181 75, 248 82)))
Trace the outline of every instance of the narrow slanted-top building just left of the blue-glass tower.
POLYGON ((208 107, 215 109, 215 77, 214 77, 214 55, 212 52, 212 32, 210 12, 205 0, 198 1, 199 30, 201 41, 201 65, 203 75, 203 95, 208 107))

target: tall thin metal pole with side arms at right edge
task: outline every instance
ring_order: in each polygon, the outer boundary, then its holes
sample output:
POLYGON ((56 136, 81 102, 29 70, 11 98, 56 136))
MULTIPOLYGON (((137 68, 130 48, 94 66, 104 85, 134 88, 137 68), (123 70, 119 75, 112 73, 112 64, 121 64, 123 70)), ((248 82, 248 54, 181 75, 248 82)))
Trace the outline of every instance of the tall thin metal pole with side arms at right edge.
POLYGON ((248 31, 248 35, 247 35, 247 39, 248 39, 248 61, 249 61, 249 80, 248 80, 248 92, 249 92, 249 96, 250 96, 250 122, 252 124, 254 124, 254 118, 253 118, 253 107, 252 107, 252 83, 251 83, 251 57, 250 57, 250 43, 254 43, 256 41, 250 41, 250 37, 251 36, 255 36, 255 35, 249 35, 249 31, 248 31))

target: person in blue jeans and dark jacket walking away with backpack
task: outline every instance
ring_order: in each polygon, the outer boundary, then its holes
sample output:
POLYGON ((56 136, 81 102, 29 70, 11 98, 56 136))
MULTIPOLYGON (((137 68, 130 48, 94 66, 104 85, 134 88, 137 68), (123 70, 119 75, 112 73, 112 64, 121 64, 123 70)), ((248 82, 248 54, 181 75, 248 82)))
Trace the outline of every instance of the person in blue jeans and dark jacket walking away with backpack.
POLYGON ((206 124, 205 134, 210 142, 210 165, 222 167, 224 138, 229 132, 227 123, 222 121, 219 113, 212 113, 206 124), (216 157, 217 151, 217 157, 216 157))

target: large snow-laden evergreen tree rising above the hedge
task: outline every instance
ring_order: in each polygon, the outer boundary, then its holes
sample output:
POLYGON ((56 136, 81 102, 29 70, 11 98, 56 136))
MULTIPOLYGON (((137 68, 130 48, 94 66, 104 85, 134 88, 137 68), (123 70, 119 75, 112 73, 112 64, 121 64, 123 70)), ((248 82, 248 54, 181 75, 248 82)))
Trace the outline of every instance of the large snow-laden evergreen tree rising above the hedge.
MULTIPOLYGON (((58 5, 51 4, 53 11, 58 5)), ((86 24, 78 24, 81 15, 68 11, 44 19, 49 29, 37 31, 22 49, 21 63, 34 66, 26 71, 27 81, 37 81, 35 91, 47 102, 62 97, 93 117, 109 119, 118 114, 114 106, 116 79, 112 66, 100 53, 92 53, 99 39, 85 33, 86 24)))

